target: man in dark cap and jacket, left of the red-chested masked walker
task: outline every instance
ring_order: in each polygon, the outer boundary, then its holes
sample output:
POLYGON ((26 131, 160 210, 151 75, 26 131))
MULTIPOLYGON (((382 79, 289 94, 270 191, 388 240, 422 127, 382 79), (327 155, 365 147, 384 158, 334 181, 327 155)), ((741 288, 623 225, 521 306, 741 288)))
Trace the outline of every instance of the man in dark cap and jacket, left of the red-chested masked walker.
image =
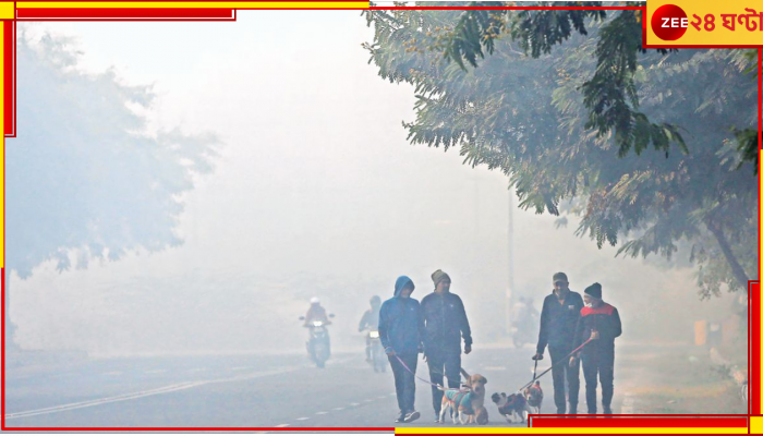
MULTIPOLYGON (((554 292, 543 301, 541 311, 541 334, 537 338, 537 349, 533 360, 542 360, 543 352, 548 346, 552 365, 566 359, 574 350, 574 328, 583 308, 583 299, 579 293, 570 291, 570 282, 565 272, 554 275, 554 292)), ((552 370, 554 378, 554 402, 556 413, 567 412, 565 403, 565 377, 569 387, 568 399, 570 414, 578 413, 578 393, 580 391, 580 364, 561 363, 552 370)))

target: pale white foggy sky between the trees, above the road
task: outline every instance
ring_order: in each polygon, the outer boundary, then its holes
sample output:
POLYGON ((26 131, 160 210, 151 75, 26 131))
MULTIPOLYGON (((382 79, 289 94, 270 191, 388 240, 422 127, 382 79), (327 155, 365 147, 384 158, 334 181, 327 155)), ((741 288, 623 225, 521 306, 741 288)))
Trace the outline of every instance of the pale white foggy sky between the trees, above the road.
MULTIPOLYGON (((457 149, 405 141, 413 89, 367 64, 361 43, 373 34, 358 11, 21 29, 77 36, 83 71, 113 65, 125 83, 155 84, 154 128, 217 132, 225 143, 215 172, 184 198, 181 247, 64 274, 46 264, 28 280, 10 278, 23 348, 302 350, 296 317, 317 295, 337 314, 334 343, 360 349, 354 331, 368 298, 391 296, 396 277, 408 275, 421 299, 438 268, 464 300, 475 347, 500 339, 508 180, 463 166, 457 149)), ((622 315, 623 340, 665 328, 682 339, 694 318, 720 316, 697 301, 690 270, 615 258, 615 249, 576 238, 574 221, 557 230, 547 215, 514 209, 513 217, 516 292, 538 310, 552 275, 564 270, 581 293, 603 283, 622 315), (658 313, 683 315, 655 320, 658 313)), ((728 300, 718 304, 725 310, 728 300)))

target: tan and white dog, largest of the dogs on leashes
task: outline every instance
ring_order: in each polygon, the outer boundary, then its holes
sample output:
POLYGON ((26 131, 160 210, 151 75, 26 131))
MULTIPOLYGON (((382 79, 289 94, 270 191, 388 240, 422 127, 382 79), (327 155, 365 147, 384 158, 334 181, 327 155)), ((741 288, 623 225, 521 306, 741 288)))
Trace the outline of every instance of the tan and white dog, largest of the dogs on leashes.
POLYGON ((461 374, 467 378, 467 383, 463 384, 463 388, 460 390, 445 390, 439 422, 445 422, 446 410, 450 408, 453 411, 453 424, 456 424, 458 417, 461 424, 476 422, 479 425, 485 425, 488 423, 487 409, 485 409, 485 385, 487 384, 487 378, 480 374, 469 375, 463 368, 461 374))

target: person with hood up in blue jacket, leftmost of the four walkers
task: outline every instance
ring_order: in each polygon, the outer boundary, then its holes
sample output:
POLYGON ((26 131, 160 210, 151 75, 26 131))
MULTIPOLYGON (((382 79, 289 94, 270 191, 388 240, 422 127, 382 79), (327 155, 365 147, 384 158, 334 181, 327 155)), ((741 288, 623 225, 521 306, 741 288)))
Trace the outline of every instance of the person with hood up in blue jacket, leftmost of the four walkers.
POLYGON ((398 277, 395 296, 385 301, 379 310, 379 339, 392 366, 400 408, 396 423, 409 423, 421 416, 413 403, 416 395, 416 362, 419 353, 423 351, 424 323, 419 301, 411 298, 414 288, 410 278, 398 277))

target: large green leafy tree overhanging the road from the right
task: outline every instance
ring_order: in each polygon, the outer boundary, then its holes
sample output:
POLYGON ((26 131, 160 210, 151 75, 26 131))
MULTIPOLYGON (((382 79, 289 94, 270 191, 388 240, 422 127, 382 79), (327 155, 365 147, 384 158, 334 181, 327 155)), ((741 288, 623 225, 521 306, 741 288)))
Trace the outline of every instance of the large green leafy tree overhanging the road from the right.
POLYGON ((689 244, 703 296, 723 284, 747 288, 756 271, 748 206, 758 187, 735 135, 754 125, 744 52, 643 52, 634 11, 397 10, 366 19, 375 28, 370 62, 382 77, 415 86, 416 119, 403 123, 412 143, 460 145, 465 162, 509 177, 520 207, 581 216, 578 233, 600 247, 669 257, 689 244))

